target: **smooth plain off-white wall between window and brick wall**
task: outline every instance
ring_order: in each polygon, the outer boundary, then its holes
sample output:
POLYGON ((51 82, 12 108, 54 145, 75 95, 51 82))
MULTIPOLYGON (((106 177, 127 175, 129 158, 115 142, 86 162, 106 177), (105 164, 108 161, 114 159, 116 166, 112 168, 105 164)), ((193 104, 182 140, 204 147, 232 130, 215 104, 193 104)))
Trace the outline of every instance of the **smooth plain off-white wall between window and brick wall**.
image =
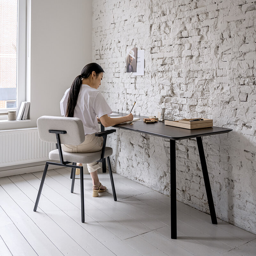
POLYGON ((39 116, 60 116, 65 90, 91 60, 92 0, 32 0, 31 122, 0 129, 35 127, 39 116))

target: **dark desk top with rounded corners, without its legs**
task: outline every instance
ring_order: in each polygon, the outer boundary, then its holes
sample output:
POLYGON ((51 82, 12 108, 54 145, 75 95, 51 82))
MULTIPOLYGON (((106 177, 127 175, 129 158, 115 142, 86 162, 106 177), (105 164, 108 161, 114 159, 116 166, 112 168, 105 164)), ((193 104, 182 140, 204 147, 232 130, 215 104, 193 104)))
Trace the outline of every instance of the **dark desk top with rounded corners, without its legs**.
MULTIPOLYGON (((114 112, 114 113, 119 114, 120 116, 127 115, 125 113, 118 113, 118 112, 114 112)), ((164 122, 146 124, 145 122, 143 122, 143 118, 148 118, 148 116, 134 115, 134 117, 140 117, 141 120, 135 121, 134 124, 132 125, 117 124, 114 127, 124 129, 124 130, 130 130, 134 132, 151 134, 151 135, 159 136, 169 140, 184 140, 189 138, 203 137, 203 136, 227 133, 232 131, 232 129, 221 128, 217 126, 189 130, 189 129, 170 126, 170 125, 165 125, 164 122)))

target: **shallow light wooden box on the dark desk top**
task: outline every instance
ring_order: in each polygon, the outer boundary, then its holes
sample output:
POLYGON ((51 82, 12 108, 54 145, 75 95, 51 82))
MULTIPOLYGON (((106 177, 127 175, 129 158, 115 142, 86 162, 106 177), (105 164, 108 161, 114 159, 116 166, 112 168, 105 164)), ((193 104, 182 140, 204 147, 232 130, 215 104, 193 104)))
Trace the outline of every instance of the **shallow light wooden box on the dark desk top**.
POLYGON ((200 121, 192 121, 189 122, 189 120, 193 120, 195 118, 191 118, 191 119, 182 119, 179 121, 169 121, 169 120, 165 120, 164 124, 166 125, 170 125, 170 126, 176 126, 176 127, 180 127, 180 128, 185 128, 185 129, 199 129, 199 128, 206 128, 206 127, 212 127, 213 126, 213 121, 212 119, 206 119, 206 118, 202 118, 203 120, 200 121))

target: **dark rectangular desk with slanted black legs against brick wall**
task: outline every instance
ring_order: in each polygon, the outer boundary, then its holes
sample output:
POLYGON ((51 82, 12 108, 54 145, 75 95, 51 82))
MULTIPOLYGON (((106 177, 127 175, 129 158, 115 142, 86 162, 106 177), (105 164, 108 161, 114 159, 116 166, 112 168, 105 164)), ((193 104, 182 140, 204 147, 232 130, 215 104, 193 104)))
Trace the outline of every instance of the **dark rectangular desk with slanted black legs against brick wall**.
MULTIPOLYGON (((126 116, 124 113, 117 113, 120 116, 126 116)), ((136 116, 140 117, 141 120, 143 118, 148 118, 146 116, 136 116)), ((203 136, 209 136, 220 133, 228 133, 232 131, 232 129, 221 128, 221 127, 208 127, 202 129, 188 130, 184 128, 174 127, 165 125, 163 122, 157 122, 153 124, 146 124, 143 121, 136 121, 133 125, 130 124, 118 124, 114 126, 115 128, 120 128, 124 130, 130 130, 133 132, 141 132, 146 133, 158 137, 162 137, 170 140, 170 172, 171 172, 171 238, 177 238, 177 209, 176 209, 176 140, 185 140, 190 138, 196 138, 199 157, 202 166, 202 172, 204 177, 204 185, 209 205, 209 210, 211 214, 212 224, 217 224, 217 218, 214 209, 214 203, 212 198, 212 190, 209 180, 209 175, 207 171, 207 165, 204 156, 204 148, 202 143, 203 136)), ((104 126, 101 125, 101 131, 104 131, 104 126)), ((103 172, 106 172, 106 163, 104 166, 103 163, 103 172), (105 168, 105 170, 104 170, 105 168)))

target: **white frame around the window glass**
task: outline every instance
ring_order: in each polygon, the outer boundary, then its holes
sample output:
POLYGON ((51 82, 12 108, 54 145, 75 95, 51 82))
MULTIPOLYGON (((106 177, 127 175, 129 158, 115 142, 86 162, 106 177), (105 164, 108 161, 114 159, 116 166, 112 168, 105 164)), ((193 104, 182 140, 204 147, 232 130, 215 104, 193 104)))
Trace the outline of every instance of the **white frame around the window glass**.
POLYGON ((27 0, 18 0, 17 4, 16 108, 2 108, 0 113, 7 113, 9 110, 19 111, 21 102, 26 100, 27 0))

